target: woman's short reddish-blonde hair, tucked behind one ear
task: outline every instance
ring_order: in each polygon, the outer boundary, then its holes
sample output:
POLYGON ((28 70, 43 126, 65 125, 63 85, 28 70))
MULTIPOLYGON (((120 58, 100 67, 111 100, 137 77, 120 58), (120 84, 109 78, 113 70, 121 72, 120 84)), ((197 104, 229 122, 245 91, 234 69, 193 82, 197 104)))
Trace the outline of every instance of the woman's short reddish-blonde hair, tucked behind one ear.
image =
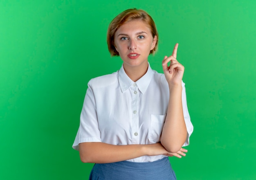
POLYGON ((157 36, 155 48, 153 50, 150 50, 149 54, 153 54, 157 50, 158 32, 155 26, 155 22, 153 21, 151 16, 146 11, 143 11, 141 9, 127 9, 126 11, 123 11, 122 13, 117 15, 108 26, 107 43, 108 50, 111 56, 119 56, 119 53, 115 48, 115 33, 117 32, 117 29, 119 29, 119 27, 124 23, 130 22, 132 20, 142 20, 148 25, 153 39, 155 38, 155 36, 157 36))

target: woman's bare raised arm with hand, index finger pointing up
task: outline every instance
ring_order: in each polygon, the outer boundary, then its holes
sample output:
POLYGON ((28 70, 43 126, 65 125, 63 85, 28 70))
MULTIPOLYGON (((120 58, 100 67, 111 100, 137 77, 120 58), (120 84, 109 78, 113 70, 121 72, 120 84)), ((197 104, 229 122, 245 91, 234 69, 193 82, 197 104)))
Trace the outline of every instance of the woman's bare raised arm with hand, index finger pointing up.
POLYGON ((184 74, 184 66, 176 59, 177 48, 178 44, 175 44, 173 54, 169 57, 165 56, 162 61, 170 96, 166 120, 160 140, 164 148, 172 153, 180 150, 187 137, 182 108, 182 77, 184 74), (168 66, 168 62, 170 62, 170 66, 168 66))

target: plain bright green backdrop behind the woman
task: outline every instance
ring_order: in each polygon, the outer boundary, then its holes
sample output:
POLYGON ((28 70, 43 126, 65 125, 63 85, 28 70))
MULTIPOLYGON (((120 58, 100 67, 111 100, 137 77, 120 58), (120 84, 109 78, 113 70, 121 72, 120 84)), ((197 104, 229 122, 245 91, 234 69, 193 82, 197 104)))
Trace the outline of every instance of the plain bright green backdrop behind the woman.
POLYGON ((177 179, 256 179, 255 0, 1 0, 0 179, 88 179, 72 149, 87 83, 121 67, 106 30, 134 7, 157 24, 153 69, 180 44, 194 132, 177 179))

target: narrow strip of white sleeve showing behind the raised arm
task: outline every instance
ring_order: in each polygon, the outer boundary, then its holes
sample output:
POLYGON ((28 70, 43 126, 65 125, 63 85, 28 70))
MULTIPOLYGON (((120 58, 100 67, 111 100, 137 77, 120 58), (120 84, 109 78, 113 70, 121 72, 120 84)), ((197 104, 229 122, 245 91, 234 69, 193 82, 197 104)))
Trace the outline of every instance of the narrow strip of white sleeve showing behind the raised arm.
POLYGON ((187 138, 183 146, 189 145, 189 137, 191 136, 193 132, 193 125, 191 123, 191 119, 189 116, 189 110, 186 103, 186 88, 185 83, 182 82, 182 106, 183 106, 183 114, 184 114, 184 120, 186 124, 186 130, 187 130, 187 138))

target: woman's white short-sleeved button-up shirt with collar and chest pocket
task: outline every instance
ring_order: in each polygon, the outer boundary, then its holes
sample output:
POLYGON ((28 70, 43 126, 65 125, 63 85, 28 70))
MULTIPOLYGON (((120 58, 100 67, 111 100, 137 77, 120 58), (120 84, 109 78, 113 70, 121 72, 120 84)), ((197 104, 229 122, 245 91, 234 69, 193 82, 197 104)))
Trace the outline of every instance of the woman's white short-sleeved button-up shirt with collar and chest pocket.
MULTIPOLYGON (((73 148, 79 143, 103 142, 112 145, 153 144, 160 141, 169 101, 169 88, 164 74, 152 70, 132 81, 124 67, 110 75, 91 79, 85 94, 80 126, 73 148)), ((189 145, 193 125, 186 104, 182 82, 182 106, 189 145)), ((132 162, 152 162, 165 155, 141 156, 132 162)))

